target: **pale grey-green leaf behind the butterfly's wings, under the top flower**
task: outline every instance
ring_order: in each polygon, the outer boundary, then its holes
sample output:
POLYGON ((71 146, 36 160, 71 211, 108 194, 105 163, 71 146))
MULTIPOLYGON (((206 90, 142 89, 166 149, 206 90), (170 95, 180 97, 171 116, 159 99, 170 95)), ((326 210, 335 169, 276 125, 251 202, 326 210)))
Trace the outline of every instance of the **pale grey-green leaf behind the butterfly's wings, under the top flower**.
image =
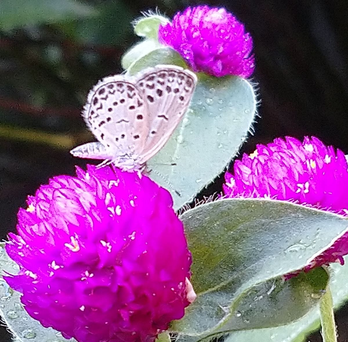
MULTIPOLYGON (((170 48, 135 61, 134 74, 157 64, 187 68, 170 48)), ((190 108, 166 145, 148 162, 150 177, 171 191, 179 209, 209 184, 233 158, 254 121, 256 97, 248 81, 235 76, 198 75, 190 108)))

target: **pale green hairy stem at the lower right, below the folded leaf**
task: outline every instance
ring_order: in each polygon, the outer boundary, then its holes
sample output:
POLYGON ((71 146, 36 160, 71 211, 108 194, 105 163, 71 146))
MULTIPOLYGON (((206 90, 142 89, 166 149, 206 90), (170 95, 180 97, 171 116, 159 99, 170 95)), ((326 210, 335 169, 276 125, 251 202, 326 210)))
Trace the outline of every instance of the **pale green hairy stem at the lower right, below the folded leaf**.
POLYGON ((333 302, 329 286, 320 301, 320 321, 322 325, 323 342, 337 342, 333 302))

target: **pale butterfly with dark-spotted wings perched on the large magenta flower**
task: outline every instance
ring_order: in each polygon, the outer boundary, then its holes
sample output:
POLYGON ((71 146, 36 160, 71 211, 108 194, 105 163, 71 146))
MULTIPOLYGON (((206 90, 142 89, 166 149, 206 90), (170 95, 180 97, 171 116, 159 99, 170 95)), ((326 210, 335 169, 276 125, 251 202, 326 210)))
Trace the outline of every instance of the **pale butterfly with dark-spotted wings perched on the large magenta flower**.
POLYGON ((193 72, 175 65, 105 77, 89 92, 82 112, 98 141, 70 153, 123 170, 142 169, 179 125, 196 84, 193 72))

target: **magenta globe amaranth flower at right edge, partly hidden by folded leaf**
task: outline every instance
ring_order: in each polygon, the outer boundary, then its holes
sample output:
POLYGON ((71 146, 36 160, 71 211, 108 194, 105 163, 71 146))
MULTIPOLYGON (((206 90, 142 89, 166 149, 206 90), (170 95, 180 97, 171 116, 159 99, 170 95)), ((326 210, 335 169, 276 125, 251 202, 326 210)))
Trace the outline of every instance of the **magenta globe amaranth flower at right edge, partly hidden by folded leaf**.
MULTIPOLYGON (((227 197, 266 197, 308 204, 341 215, 348 213, 348 166, 339 149, 327 147, 318 138, 303 142, 291 137, 257 145, 226 172, 223 185, 227 197)), ((348 233, 315 257, 305 271, 331 262, 344 263, 348 254, 348 233)))

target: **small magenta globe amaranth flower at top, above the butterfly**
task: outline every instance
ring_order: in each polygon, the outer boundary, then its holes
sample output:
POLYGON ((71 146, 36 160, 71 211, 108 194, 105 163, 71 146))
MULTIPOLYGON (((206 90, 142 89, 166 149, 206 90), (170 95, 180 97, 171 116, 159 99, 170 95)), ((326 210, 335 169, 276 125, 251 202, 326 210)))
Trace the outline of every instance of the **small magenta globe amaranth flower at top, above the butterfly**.
POLYGON ((160 25, 158 38, 176 50, 194 71, 247 78, 255 68, 250 34, 224 8, 188 7, 171 23, 160 25))

